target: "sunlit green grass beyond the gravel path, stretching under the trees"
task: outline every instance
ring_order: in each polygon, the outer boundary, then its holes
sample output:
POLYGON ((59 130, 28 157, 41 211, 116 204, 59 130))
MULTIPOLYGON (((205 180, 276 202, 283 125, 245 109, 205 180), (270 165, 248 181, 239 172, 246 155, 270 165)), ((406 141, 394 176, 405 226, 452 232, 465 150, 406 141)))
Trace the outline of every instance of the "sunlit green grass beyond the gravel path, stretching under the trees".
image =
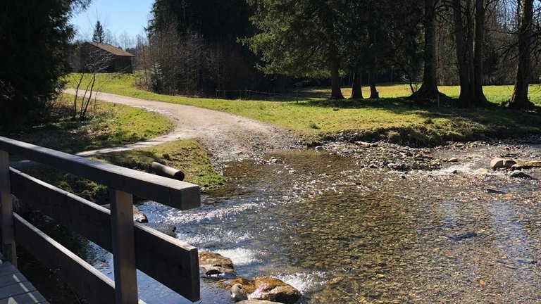
MULTIPOLYGON (((75 78, 75 77, 71 77, 75 78)), ((541 116, 493 108, 454 108, 449 103, 417 106, 404 97, 409 96, 405 84, 380 86, 379 100, 326 99, 328 89, 304 89, 282 97, 281 101, 246 101, 166 96, 137 89, 135 75, 99 75, 99 90, 142 99, 182 103, 220 110, 247 118, 270 122, 297 132, 307 143, 332 137, 344 130, 358 131, 359 139, 385 139, 416 141, 417 144, 441 144, 443 141, 466 141, 490 137, 523 136, 541 133, 541 116), (299 101, 296 101, 299 96, 299 101), (425 122, 430 123, 425 123, 425 122), (400 137, 394 135, 399 133, 400 137), (390 136, 392 135, 392 136, 390 136)), ((499 105, 511 96, 512 86, 487 86, 487 99, 499 105)), ((459 87, 440 87, 442 93, 456 98, 459 87)), ((351 89, 344 89, 349 96, 351 89)), ((363 90, 368 96, 368 88, 363 90)), ((541 106, 541 87, 530 87, 530 99, 541 106)))

